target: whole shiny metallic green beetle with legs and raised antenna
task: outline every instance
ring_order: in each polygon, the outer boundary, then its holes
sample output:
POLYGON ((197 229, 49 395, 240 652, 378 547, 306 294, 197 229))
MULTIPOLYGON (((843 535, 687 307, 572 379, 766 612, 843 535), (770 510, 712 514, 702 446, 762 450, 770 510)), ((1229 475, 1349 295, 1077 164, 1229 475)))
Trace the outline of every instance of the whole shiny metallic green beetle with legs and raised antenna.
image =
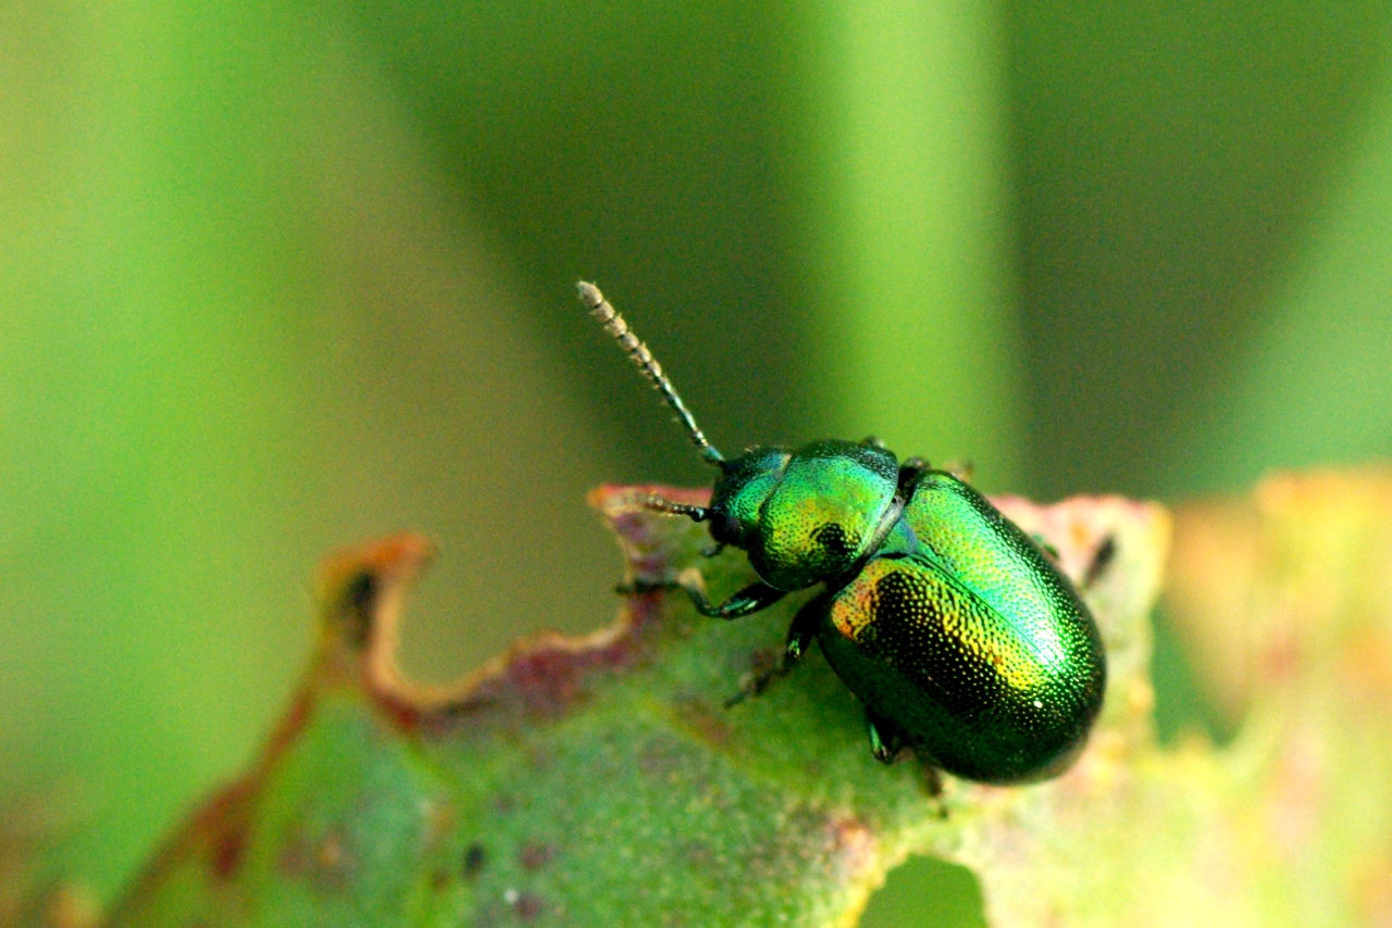
POLYGON ((874 438, 725 458, 600 289, 582 282, 579 295, 720 472, 709 505, 644 501, 707 523, 713 551, 745 551, 759 577, 715 604, 700 570, 683 570, 677 583, 696 609, 736 619, 823 586, 793 618, 778 665, 748 693, 786 673, 816 639, 864 704, 881 761, 909 746, 948 774, 1001 785, 1072 762, 1101 710, 1107 659, 1054 558, 959 476, 901 462, 874 438))

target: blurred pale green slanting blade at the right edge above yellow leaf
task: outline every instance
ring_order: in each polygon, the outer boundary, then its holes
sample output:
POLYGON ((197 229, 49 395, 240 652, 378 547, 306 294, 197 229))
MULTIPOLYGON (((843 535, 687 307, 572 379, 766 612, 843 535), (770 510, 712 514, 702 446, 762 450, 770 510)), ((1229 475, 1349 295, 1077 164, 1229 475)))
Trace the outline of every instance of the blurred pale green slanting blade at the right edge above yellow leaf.
POLYGON ((1392 72, 1379 77, 1268 317, 1166 444, 1171 486, 1242 486, 1272 466, 1392 452, 1392 72))

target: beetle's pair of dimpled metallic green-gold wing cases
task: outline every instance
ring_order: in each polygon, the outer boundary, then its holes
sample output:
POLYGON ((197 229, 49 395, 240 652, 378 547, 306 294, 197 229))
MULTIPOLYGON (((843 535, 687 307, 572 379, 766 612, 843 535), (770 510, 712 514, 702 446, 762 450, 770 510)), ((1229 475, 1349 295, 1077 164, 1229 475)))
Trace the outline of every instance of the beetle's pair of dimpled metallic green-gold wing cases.
POLYGON ((1011 783, 1058 772, 1105 687, 1087 607, 1013 522, 951 474, 923 477, 902 526, 898 557, 871 559, 832 595, 817 634, 827 659, 949 774, 1011 783))

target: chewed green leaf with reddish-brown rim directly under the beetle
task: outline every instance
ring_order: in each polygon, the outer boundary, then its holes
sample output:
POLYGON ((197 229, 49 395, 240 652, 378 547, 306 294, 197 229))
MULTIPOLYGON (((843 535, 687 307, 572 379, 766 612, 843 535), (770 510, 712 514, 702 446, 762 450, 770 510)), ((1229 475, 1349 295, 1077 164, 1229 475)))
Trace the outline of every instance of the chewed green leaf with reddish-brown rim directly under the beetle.
POLYGON ((1153 751, 1158 506, 1001 501, 1065 570, 1094 572, 1108 705, 1062 778, 949 779, 935 796, 912 755, 871 758, 863 712, 820 655, 727 707, 774 658, 799 602, 717 622, 661 590, 696 563, 714 595, 752 575, 736 551, 704 559, 700 526, 644 509, 653 490, 592 499, 643 590, 615 623, 521 641, 458 687, 420 687, 395 666, 402 597, 429 545, 402 536, 331 561, 319 654, 280 732, 171 839, 111 924, 851 925, 916 851, 972 861, 994 910, 988 871, 1065 865, 1073 854, 1044 845, 1069 850, 1153 751))

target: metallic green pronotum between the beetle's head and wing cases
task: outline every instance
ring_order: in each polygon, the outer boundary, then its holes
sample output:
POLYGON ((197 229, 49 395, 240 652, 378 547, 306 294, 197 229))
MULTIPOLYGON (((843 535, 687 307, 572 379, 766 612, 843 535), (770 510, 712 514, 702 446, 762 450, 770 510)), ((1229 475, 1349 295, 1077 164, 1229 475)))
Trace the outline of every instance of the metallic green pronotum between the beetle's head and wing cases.
POLYGON ((799 448, 760 508, 749 562, 775 590, 803 590, 849 570, 894 499, 899 467, 887 451, 849 441, 799 448))

